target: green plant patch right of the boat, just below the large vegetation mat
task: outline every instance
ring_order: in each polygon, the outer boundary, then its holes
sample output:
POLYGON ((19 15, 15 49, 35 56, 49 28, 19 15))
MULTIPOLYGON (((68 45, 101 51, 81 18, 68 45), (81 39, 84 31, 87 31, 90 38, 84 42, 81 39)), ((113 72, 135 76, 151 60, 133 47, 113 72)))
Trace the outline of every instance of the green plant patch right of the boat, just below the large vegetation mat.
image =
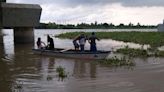
POLYGON ((143 49, 134 49, 134 48, 121 48, 116 51, 117 53, 122 53, 128 55, 130 57, 147 57, 148 52, 147 50, 143 49))

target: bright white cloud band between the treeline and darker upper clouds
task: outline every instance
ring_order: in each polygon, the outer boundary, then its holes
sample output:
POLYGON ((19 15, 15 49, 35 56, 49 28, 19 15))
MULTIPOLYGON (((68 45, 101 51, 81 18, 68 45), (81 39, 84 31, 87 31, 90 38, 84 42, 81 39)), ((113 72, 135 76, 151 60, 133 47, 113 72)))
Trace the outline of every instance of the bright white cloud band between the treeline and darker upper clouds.
POLYGON ((42 21, 57 23, 125 23, 158 24, 164 18, 164 7, 123 7, 120 4, 96 6, 78 6, 60 8, 59 6, 44 6, 42 21), (48 17, 47 17, 48 16, 48 17))

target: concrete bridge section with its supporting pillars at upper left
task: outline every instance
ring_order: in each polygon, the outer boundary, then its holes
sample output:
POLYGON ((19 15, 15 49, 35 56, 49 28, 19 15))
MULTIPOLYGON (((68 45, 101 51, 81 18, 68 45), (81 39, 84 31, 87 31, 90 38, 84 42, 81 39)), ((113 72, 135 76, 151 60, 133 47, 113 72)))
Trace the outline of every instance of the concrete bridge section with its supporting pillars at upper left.
POLYGON ((42 8, 37 4, 15 4, 0 0, 0 43, 4 27, 14 30, 14 43, 33 43, 34 27, 39 25, 42 8))

